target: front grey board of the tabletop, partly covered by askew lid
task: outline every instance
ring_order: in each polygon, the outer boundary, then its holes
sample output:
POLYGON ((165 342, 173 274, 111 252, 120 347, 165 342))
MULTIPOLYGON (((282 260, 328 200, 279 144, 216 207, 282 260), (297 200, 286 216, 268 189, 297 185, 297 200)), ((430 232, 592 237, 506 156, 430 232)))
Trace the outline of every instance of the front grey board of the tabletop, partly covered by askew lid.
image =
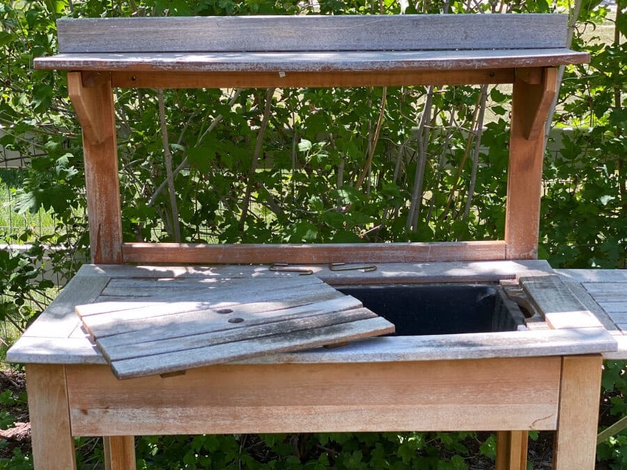
MULTIPOLYGON (((88 338, 74 340, 70 350, 58 341, 20 338, 7 354, 18 363, 107 363, 88 338), (79 352, 81 354, 79 354, 79 352)), ((396 336, 369 338, 344 347, 272 354, 245 363, 364 363, 388 361, 438 361, 494 357, 557 356, 603 352, 608 359, 627 357, 627 336, 612 336, 604 328, 504 331, 464 335, 396 336), (617 352, 617 341, 622 349, 617 352)))

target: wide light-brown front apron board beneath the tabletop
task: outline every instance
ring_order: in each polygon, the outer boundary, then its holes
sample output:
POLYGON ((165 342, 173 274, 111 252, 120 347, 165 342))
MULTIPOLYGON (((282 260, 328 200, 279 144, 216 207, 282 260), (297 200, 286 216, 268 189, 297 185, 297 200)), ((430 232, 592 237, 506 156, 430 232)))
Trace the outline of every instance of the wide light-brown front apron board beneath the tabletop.
POLYGON ((555 429, 560 366, 555 357, 228 364, 124 381, 73 366, 68 389, 77 435, 555 429))

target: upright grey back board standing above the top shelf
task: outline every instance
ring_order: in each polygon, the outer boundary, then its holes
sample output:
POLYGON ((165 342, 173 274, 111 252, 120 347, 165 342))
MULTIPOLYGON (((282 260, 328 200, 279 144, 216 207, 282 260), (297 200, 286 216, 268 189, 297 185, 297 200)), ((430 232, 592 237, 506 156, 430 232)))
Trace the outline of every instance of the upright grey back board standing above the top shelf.
POLYGON ((59 19, 60 52, 251 52, 565 47, 567 15, 59 19))

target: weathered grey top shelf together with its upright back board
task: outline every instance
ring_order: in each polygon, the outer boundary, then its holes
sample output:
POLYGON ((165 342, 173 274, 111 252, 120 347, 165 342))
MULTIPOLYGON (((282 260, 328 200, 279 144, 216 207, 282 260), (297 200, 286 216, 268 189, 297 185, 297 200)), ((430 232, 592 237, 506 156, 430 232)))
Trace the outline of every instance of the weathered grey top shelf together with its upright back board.
MULTIPOLYGON (((60 19, 42 69, 111 72, 420 72, 585 63, 566 15, 60 19)), ((277 85, 280 86, 279 83, 277 85)))

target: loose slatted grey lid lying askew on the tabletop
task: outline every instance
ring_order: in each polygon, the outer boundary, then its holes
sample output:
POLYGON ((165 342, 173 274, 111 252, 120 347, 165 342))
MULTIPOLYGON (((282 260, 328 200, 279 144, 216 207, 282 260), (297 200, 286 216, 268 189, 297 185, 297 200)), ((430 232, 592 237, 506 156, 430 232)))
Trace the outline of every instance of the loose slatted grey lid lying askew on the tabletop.
POLYGON ((76 311, 120 379, 394 331, 314 276, 111 279, 76 311))

